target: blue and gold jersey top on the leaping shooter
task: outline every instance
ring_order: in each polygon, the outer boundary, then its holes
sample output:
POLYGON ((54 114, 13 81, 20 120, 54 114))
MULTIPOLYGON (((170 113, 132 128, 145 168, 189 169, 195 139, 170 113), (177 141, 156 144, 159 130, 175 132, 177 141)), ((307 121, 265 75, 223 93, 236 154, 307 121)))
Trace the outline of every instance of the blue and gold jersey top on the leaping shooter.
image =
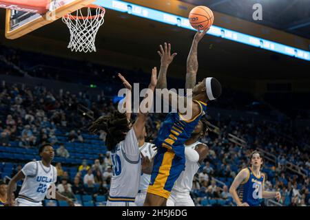
POLYGON ((182 120, 179 113, 169 113, 158 131, 154 144, 158 147, 164 147, 174 151, 178 157, 185 157, 184 143, 192 135, 203 112, 207 109, 205 102, 194 100, 200 106, 200 113, 192 120, 182 120))

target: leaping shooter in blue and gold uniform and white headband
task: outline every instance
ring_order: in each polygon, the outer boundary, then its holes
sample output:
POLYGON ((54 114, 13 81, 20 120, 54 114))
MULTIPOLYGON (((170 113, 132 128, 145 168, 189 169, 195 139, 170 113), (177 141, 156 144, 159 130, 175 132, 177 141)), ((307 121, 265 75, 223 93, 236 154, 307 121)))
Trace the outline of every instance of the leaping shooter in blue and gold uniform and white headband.
MULTIPOLYGON (((163 89, 163 100, 170 105, 183 103, 189 107, 186 111, 180 111, 178 107, 175 113, 169 113, 158 131, 154 140, 157 154, 154 158, 154 166, 151 181, 147 189, 147 197, 144 206, 166 206, 172 187, 176 179, 185 170, 185 146, 200 118, 205 114, 207 102, 218 98, 222 92, 220 83, 216 78, 205 78, 196 85, 198 71, 197 47, 198 42, 205 36, 204 32, 197 32, 194 37, 191 51, 187 58, 186 89, 192 89, 192 100, 188 97, 178 96, 174 91, 167 90, 167 69, 174 56, 171 55, 171 45, 160 45, 158 54, 161 56, 161 70, 158 75, 156 88, 163 89), (191 111, 192 113, 189 113, 191 111), (189 114, 187 114, 189 113, 189 114)), ((180 105, 179 105, 180 106, 180 105)), ((176 107, 176 106, 174 106, 176 107)))

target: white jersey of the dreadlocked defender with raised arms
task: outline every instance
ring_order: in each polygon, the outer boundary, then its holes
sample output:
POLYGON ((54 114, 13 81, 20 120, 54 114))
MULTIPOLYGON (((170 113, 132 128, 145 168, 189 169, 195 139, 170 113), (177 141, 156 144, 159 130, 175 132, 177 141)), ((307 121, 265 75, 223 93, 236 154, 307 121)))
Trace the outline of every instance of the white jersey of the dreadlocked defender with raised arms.
POLYGON ((134 129, 111 152, 113 176, 107 206, 134 206, 141 177, 138 140, 134 129))

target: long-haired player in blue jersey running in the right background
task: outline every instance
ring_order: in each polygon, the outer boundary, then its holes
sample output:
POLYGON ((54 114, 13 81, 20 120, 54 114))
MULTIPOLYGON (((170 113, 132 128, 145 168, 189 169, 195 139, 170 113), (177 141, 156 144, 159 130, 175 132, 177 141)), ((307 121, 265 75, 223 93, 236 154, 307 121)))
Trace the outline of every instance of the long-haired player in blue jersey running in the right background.
POLYGON ((265 175, 260 172, 262 166, 260 152, 251 153, 249 161, 250 166, 238 173, 229 189, 237 206, 260 206, 263 198, 276 197, 280 201, 280 192, 269 192, 264 189, 265 175), (237 193, 238 187, 239 193, 237 193))

